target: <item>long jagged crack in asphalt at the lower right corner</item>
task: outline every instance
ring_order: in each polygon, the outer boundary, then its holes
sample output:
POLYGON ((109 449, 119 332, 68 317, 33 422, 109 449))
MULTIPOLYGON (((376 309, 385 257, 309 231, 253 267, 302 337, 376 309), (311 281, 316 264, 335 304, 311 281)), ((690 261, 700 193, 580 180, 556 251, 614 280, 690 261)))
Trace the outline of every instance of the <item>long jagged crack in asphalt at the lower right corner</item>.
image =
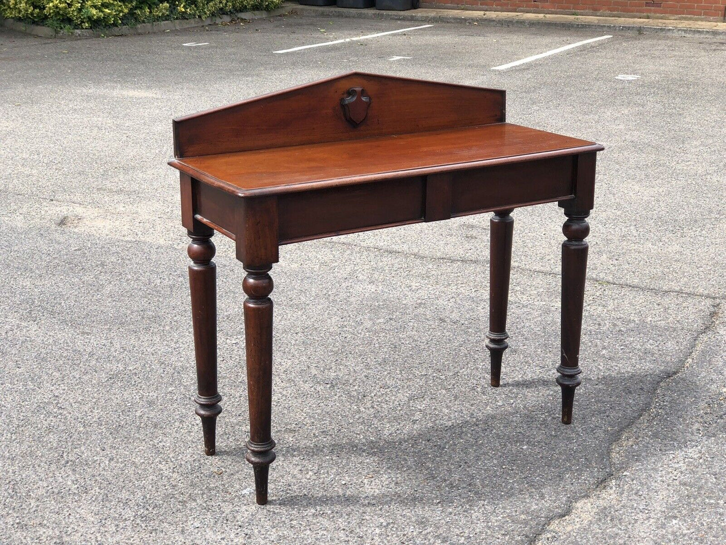
POLYGON ((616 476, 616 472, 613 470, 613 462, 617 458, 616 449, 619 448, 619 446, 621 445, 627 445, 629 442, 636 442, 636 429, 642 428, 645 425, 645 422, 653 419, 653 412, 656 408, 656 403, 661 390, 664 389, 664 387, 672 382, 677 376, 685 373, 685 371, 688 371, 688 368, 690 368, 690 364, 693 363, 693 360, 695 360, 698 354, 701 353, 703 345, 706 344, 706 341, 709 339, 711 333, 715 331, 717 320, 719 319, 719 316, 721 315, 724 306, 725 304, 722 302, 713 304, 713 306, 711 307, 711 314, 709 316, 709 323, 701 328, 701 331, 698 331, 698 334, 696 334, 696 337, 693 340, 693 344, 691 345, 691 349, 688 352, 688 357, 685 358, 684 362, 680 367, 665 376, 663 380, 656 384, 656 387, 653 388, 653 395, 650 398, 650 404, 646 408, 644 408, 643 411, 641 411, 635 417, 635 419, 627 424, 627 426, 622 429, 620 435, 616 438, 616 440, 611 443, 610 448, 608 448, 608 466, 606 468, 606 475, 601 479, 598 479, 594 485, 588 487, 585 493, 582 494, 582 496, 579 496, 578 498, 570 501, 565 509, 557 514, 552 515, 552 517, 550 517, 547 522, 542 525, 542 528, 540 528, 537 533, 535 533, 534 536, 529 540, 529 545, 535 545, 539 543, 540 538, 542 538, 542 536, 547 533, 547 530, 549 530, 552 524, 554 524, 558 520, 562 520, 570 516, 578 504, 582 503, 582 501, 587 501, 590 498, 595 498, 598 493, 605 490, 605 488, 613 481, 613 477, 616 476))

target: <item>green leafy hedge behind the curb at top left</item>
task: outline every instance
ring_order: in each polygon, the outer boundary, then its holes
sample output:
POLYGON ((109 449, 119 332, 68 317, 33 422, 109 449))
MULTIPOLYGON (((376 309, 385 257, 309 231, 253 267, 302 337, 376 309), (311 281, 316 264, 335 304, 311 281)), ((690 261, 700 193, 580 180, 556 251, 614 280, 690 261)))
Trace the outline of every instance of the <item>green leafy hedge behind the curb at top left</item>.
POLYGON ((0 0, 0 15, 53 28, 104 28, 268 10, 280 4, 282 0, 0 0))

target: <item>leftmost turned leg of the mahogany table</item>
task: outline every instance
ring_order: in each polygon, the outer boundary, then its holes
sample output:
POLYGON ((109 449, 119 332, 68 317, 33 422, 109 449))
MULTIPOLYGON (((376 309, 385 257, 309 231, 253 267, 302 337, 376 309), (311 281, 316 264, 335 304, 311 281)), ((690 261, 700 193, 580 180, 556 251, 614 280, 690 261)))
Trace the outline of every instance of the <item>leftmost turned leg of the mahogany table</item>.
POLYGON ((194 326, 194 350, 197 362, 196 413, 202 419, 204 452, 212 456, 215 451, 217 415, 221 395, 217 392, 217 288, 213 230, 200 227, 189 231, 192 241, 187 254, 189 265, 189 291, 192 294, 192 324, 194 326))

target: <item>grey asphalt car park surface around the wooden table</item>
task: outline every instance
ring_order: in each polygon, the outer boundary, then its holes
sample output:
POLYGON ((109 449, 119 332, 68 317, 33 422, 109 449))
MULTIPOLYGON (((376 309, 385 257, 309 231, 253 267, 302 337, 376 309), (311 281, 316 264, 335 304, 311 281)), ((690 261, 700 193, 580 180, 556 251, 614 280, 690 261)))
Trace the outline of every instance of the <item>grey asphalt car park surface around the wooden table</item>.
POLYGON ((623 33, 497 71, 597 33, 437 23, 272 53, 406 26, 0 31, 1 543, 726 542, 726 40, 623 33), (218 456, 193 413, 171 118, 349 70, 507 89, 507 121, 605 145, 583 384, 564 427, 555 204, 514 214, 499 389, 486 214, 285 246, 260 507, 221 236, 218 456))

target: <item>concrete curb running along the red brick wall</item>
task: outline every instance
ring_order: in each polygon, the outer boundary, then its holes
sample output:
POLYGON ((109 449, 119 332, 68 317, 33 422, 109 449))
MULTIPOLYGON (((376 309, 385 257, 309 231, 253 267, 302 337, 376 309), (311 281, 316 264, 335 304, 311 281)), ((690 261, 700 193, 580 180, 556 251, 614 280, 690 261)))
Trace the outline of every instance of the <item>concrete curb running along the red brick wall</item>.
POLYGON ((483 12, 464 9, 413 9, 407 12, 369 9, 344 9, 335 6, 316 7, 285 4, 299 15, 354 17, 358 19, 391 19, 423 21, 424 23, 465 23, 492 26, 587 28, 605 32, 635 32, 671 36, 726 36, 726 23, 696 20, 637 19, 630 17, 595 17, 592 15, 559 15, 523 12, 483 12))

